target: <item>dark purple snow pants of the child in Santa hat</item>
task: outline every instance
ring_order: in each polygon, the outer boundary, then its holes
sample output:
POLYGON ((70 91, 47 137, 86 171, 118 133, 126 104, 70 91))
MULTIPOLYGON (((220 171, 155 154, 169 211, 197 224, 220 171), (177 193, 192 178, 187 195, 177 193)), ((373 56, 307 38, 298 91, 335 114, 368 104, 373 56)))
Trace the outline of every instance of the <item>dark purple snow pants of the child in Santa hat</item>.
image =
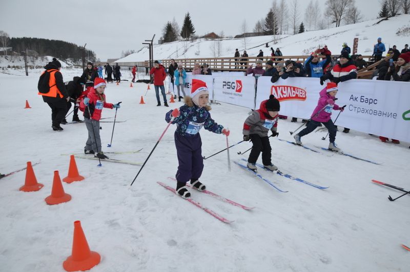
POLYGON ((185 137, 175 132, 174 137, 179 163, 175 179, 178 182, 199 179, 203 170, 202 141, 199 133, 193 137, 185 137))

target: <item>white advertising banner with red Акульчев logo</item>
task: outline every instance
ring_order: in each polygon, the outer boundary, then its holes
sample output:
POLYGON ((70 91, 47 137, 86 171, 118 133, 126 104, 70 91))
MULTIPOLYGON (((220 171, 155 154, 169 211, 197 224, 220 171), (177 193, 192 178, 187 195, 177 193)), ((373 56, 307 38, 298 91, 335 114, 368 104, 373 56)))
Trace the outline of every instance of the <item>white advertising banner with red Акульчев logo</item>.
POLYGON ((280 115, 310 119, 323 89, 319 79, 312 77, 288 77, 272 83, 270 76, 260 76, 256 92, 256 109, 269 95, 280 102, 280 115))

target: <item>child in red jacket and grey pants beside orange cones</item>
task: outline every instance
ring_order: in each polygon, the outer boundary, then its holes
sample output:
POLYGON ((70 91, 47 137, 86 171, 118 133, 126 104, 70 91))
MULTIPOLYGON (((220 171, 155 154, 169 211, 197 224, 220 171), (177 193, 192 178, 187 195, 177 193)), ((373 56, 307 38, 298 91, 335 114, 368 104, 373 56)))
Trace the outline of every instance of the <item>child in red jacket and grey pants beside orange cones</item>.
POLYGON ((86 146, 84 147, 84 153, 95 154, 94 157, 99 159, 108 159, 103 151, 101 151, 101 138, 99 136, 101 111, 103 110, 103 107, 110 109, 119 108, 119 104, 106 102, 106 95, 104 94, 106 85, 105 80, 96 77, 94 80, 94 87, 90 88, 87 97, 80 102, 80 110, 84 111, 84 121, 88 130, 88 139, 86 146))

